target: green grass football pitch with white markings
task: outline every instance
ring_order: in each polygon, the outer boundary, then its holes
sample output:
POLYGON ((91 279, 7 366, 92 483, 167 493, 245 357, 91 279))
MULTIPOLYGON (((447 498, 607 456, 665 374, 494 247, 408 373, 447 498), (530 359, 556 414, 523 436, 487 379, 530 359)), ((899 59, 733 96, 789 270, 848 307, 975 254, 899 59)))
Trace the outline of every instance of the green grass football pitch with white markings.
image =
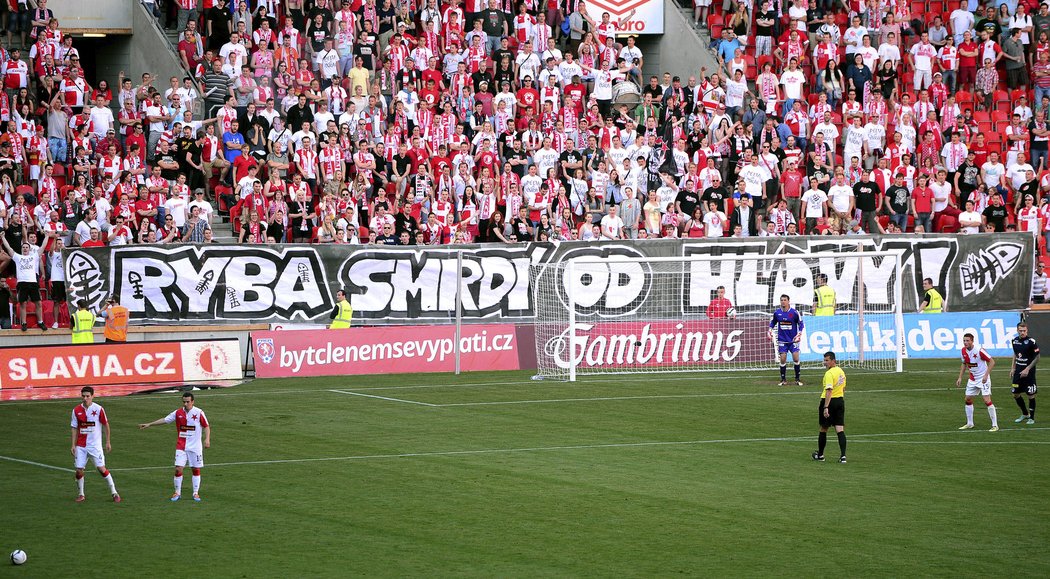
POLYGON ((998 433, 956 430, 957 363, 847 369, 848 464, 810 458, 816 370, 256 380, 197 393, 201 503, 135 428, 176 394, 98 399, 121 504, 74 503, 76 400, 4 404, 0 576, 1048 577, 1050 400, 1015 425, 1002 368, 998 433))

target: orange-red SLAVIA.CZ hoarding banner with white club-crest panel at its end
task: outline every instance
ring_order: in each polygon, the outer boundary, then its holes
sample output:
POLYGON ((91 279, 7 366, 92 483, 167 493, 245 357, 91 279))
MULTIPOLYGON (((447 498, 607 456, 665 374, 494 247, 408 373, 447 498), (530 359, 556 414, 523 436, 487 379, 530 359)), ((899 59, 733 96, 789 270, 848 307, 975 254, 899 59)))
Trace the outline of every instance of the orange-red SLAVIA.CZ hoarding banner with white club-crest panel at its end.
POLYGON ((235 338, 0 349, 0 389, 5 390, 240 377, 235 338))

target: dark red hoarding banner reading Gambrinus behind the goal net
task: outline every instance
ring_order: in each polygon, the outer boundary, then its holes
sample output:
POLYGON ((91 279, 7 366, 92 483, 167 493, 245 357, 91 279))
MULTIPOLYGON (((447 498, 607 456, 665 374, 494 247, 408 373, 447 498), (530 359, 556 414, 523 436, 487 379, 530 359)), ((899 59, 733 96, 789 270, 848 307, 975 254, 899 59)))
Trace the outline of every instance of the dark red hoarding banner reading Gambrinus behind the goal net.
POLYGON ((568 328, 549 337, 542 355, 561 368, 728 365, 769 361, 774 345, 764 319, 576 323, 569 355, 568 328))

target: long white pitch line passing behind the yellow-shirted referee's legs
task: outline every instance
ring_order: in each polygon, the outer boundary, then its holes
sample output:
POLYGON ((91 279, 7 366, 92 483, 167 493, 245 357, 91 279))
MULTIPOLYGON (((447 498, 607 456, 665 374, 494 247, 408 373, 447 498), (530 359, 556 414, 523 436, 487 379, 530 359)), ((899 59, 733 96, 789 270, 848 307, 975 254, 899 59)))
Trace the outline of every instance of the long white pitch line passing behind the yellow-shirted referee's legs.
MULTIPOLYGON (((1050 428, 1034 428, 1034 429, 1007 429, 1001 432, 1024 432, 1031 430, 1050 430, 1050 428)), ((875 437, 887 437, 887 436, 930 436, 930 435, 960 435, 960 436, 971 436, 979 431, 964 431, 960 432, 958 430, 945 430, 945 431, 929 431, 929 432, 886 432, 886 433, 876 433, 876 434, 850 434, 849 439, 856 440, 860 438, 860 441, 874 441, 864 440, 865 438, 875 437)), ((768 438, 714 438, 707 440, 667 440, 667 441, 647 441, 647 442, 610 442, 606 444, 566 444, 559 447, 526 447, 526 448, 510 448, 510 449, 478 449, 469 451, 435 451, 435 452, 413 452, 413 453, 400 453, 400 454, 362 454, 362 455, 351 455, 351 456, 326 456, 318 458, 278 458, 272 460, 242 460, 237 462, 214 462, 209 463, 208 467, 243 467, 243 466, 258 466, 258 464, 292 464, 298 462, 336 462, 336 461, 350 461, 350 460, 374 460, 374 459, 390 459, 390 458, 425 458, 430 456, 461 456, 461 455, 482 455, 482 454, 511 454, 511 453, 527 453, 527 452, 550 452, 550 451, 574 451, 574 450, 591 450, 591 449, 629 449, 629 448, 644 448, 644 447, 684 447, 684 446, 697 446, 697 444, 728 444, 733 442, 805 442, 812 441, 813 435, 806 436, 774 436, 768 438)), ((976 441, 980 443, 981 441, 976 441)), ((110 469, 112 472, 130 472, 130 471, 158 471, 164 469, 170 469, 170 464, 164 467, 131 467, 127 469, 110 469)))

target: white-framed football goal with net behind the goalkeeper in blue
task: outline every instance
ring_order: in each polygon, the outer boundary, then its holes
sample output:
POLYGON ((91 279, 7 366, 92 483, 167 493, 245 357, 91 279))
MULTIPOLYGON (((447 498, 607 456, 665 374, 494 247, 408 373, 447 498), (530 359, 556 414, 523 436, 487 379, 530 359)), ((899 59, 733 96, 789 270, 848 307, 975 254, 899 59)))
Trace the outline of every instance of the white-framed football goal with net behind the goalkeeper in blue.
POLYGON ((830 350, 845 367, 900 372, 901 275, 894 252, 569 257, 532 271, 539 374, 774 370, 782 295, 802 316, 804 368, 830 350), (821 285, 834 297, 821 290, 817 304, 821 285))

